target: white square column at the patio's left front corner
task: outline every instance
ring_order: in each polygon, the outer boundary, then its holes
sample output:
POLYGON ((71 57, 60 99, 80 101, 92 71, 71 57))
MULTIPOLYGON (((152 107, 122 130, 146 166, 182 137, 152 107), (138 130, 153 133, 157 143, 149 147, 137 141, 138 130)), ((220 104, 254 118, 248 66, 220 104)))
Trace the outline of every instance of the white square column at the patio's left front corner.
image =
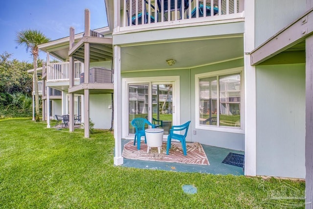
POLYGON ((114 46, 114 165, 123 164, 122 157, 122 83, 121 83, 121 47, 114 46))

